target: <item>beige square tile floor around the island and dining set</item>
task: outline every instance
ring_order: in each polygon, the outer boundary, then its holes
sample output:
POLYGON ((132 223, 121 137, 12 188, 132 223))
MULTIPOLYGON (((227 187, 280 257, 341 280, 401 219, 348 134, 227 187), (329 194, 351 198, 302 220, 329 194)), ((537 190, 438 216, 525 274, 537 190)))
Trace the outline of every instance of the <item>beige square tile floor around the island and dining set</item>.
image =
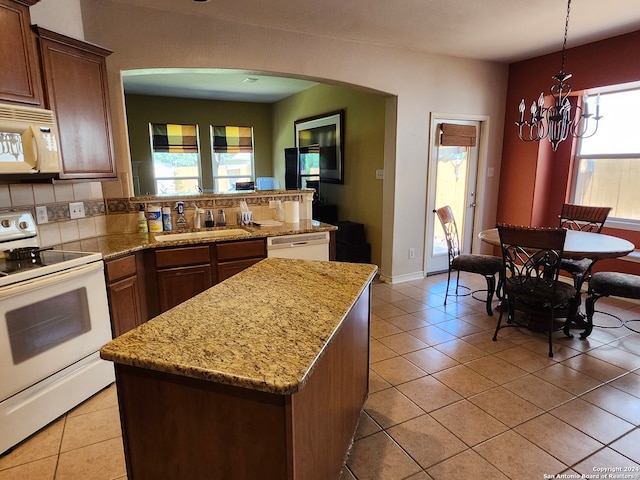
MULTIPOLYGON (((369 399, 343 480, 580 478, 607 467, 628 476, 599 478, 640 479, 640 334, 558 332, 549 358, 539 333, 508 328, 493 342, 497 312, 469 296, 445 307, 445 287, 446 275, 374 284, 369 399)), ((635 303, 597 306, 640 318, 635 303)), ((119 425, 111 386, 0 457, 0 480, 126 479, 119 425)))

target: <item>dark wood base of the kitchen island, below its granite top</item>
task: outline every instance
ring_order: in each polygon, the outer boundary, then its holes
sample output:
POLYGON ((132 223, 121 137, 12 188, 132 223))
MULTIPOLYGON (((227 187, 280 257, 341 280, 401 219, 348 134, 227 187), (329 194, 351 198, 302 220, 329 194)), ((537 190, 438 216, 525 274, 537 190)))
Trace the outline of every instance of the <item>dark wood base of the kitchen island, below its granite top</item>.
POLYGON ((370 288, 290 395, 116 364, 127 478, 337 480, 368 392, 370 288))

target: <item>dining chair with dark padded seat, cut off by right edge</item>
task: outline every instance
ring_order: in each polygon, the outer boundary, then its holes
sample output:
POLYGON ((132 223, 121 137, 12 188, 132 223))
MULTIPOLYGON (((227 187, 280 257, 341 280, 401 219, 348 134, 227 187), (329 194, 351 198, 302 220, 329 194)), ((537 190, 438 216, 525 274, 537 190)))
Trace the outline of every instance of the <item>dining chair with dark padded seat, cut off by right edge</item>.
MULTIPOLYGON (((589 336, 593 330, 593 315, 595 313, 596 302, 602 297, 609 296, 640 300, 640 276, 621 272, 596 272, 591 276, 589 279, 587 300, 585 301, 587 329, 581 335, 583 338, 589 336)), ((629 326, 629 323, 640 322, 640 319, 622 320, 617 315, 613 315, 611 313, 606 313, 606 315, 617 319, 620 323, 613 327, 604 327, 603 325, 600 325, 600 327, 616 328, 624 326, 632 332, 640 333, 640 330, 636 330, 629 326)))

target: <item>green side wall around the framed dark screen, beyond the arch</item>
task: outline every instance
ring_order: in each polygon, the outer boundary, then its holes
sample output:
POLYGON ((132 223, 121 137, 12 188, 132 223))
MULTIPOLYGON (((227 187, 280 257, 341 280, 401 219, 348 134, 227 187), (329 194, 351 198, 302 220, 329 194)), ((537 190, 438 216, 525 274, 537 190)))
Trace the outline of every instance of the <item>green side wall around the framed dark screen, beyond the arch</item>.
POLYGON ((320 195, 338 205, 338 219, 365 225, 371 261, 380 265, 385 102, 383 95, 353 88, 318 85, 273 105, 273 173, 284 185, 284 149, 295 146, 294 121, 345 111, 344 184, 320 184, 320 195))

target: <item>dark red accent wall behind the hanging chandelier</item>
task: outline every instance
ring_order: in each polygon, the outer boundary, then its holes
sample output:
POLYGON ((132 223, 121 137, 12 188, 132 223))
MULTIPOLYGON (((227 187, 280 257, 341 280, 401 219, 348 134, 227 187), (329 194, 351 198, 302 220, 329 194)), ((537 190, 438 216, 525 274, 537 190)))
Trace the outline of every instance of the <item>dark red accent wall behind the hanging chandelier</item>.
MULTIPOLYGON (((640 81, 640 31, 613 37, 567 50, 565 71, 573 74, 568 80, 573 92, 588 88, 640 81)), ((569 139, 553 152, 548 140, 523 142, 518 138, 515 122, 522 98, 527 104, 540 92, 549 95, 551 78, 560 71, 561 52, 532 58, 509 66, 504 143, 498 194, 498 222, 516 225, 556 226, 562 204, 567 198, 571 175, 569 139)), ((602 112, 603 122, 606 112, 602 112)), ((627 238, 640 248, 640 232, 626 230, 610 233, 627 238)), ((613 261, 612 261, 613 262, 613 261)), ((616 261, 615 264, 640 264, 616 261)))

